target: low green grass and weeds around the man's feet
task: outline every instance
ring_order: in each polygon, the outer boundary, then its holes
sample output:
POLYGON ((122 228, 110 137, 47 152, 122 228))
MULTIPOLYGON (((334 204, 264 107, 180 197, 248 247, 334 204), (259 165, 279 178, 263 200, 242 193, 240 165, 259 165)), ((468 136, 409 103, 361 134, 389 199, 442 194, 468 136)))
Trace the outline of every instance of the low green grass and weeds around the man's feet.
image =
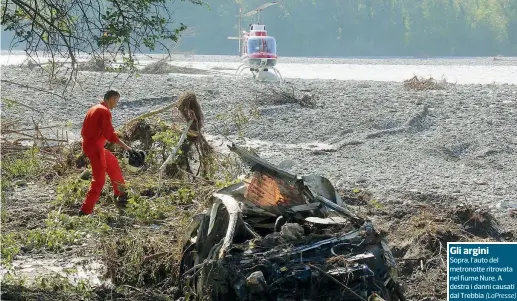
MULTIPOLYGON (((256 115, 239 107, 226 118, 240 131, 256 115)), ((170 128, 165 124, 160 126, 170 128)), ((210 156, 206 159, 210 171, 208 179, 191 181, 183 177, 165 177, 159 185, 157 168, 177 143, 179 134, 167 130, 152 138, 146 162, 149 168, 137 175, 125 174, 129 199, 124 210, 113 204, 113 191, 107 180, 93 215, 79 217, 67 214, 75 212, 84 201, 91 181, 81 180, 80 171, 70 169, 70 164, 61 164, 60 168, 68 170, 63 170, 54 180, 46 181, 46 185, 55 188, 56 197, 50 207, 41 206, 45 211, 50 208, 44 218, 44 226, 17 232, 2 231, 2 265, 12 267, 18 254, 60 253, 63 250, 67 250, 63 254, 74 254, 68 252, 69 247, 87 243, 84 248, 102 258, 108 269, 107 276, 118 286, 126 284, 145 289, 174 281, 184 229, 191 217, 204 209, 204 203, 214 190, 238 182, 234 175, 237 165, 226 157, 210 156), (161 193, 160 196, 151 198, 157 192, 161 193)), ((69 157, 75 158, 75 155, 72 153, 69 157)), ((39 150, 31 149, 16 157, 3 158, 1 164, 3 221, 8 214, 4 209, 5 191, 18 180, 41 179, 55 162, 42 160, 39 150)), ((43 217, 36 218, 41 224, 43 217)), ((18 297, 46 296, 52 300, 51 294, 57 291, 62 293, 59 298, 64 300, 80 300, 87 299, 91 292, 87 283, 71 284, 66 278, 45 277, 28 285, 18 276, 8 275, 2 280, 2 285, 7 285, 12 293, 20 292, 16 295, 18 297)))

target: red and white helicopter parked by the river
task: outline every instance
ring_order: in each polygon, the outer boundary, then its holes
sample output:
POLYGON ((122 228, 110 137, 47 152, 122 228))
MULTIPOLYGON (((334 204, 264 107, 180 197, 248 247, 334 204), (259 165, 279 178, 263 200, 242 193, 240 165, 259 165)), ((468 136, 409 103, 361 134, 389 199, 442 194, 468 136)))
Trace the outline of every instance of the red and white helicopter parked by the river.
MULTIPOLYGON (((275 68, 277 62, 276 40, 267 35, 266 25, 260 24, 260 13, 267 7, 278 4, 276 1, 266 3, 244 15, 242 8, 239 9, 239 37, 228 37, 229 40, 239 41, 239 56, 244 63, 241 64, 235 74, 239 75, 249 68, 253 77, 264 78, 269 69, 282 80, 282 75, 275 68), (256 20, 253 19, 257 16, 256 20), (249 25, 249 32, 242 31, 242 17, 252 17, 249 25)), ((268 73, 271 74, 271 73, 268 73)))

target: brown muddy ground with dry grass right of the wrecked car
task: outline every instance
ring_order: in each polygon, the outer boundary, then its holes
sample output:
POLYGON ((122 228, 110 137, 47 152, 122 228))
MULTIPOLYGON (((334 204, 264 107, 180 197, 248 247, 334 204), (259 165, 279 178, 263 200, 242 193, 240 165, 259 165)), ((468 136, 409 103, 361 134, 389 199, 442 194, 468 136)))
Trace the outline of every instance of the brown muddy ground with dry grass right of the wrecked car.
POLYGON ((406 200, 402 205, 376 203, 363 191, 343 196, 350 206, 367 208, 382 229, 397 260, 408 300, 446 300, 447 242, 515 241, 517 230, 515 225, 502 225, 486 210, 460 200, 443 196, 432 202, 426 199, 406 200))

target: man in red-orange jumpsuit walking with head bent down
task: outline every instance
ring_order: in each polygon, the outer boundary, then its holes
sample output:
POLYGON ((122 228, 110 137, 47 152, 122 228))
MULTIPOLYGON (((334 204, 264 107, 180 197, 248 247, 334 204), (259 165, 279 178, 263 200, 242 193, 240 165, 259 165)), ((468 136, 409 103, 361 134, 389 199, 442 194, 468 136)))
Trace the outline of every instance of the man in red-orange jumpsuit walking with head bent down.
POLYGON ((106 141, 109 141, 119 144, 127 151, 131 151, 129 146, 120 141, 111 123, 111 110, 117 106, 119 99, 119 92, 109 90, 104 94, 104 100, 91 107, 84 118, 81 136, 83 137, 83 152, 90 159, 92 166, 92 183, 79 215, 92 213, 106 182, 106 173, 108 173, 113 186, 115 198, 122 201, 121 198, 124 197, 121 196, 119 190, 119 185, 124 184, 124 177, 118 160, 104 148, 106 141))

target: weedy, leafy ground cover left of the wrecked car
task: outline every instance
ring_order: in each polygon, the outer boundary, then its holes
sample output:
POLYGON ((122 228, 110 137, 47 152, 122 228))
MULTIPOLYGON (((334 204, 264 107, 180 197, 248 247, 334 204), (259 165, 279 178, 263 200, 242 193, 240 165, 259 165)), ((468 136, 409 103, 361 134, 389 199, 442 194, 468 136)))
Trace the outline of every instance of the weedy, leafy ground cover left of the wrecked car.
MULTIPOLYGON (((241 113, 242 108, 232 114, 241 113)), ((237 122, 239 118, 235 116, 228 118, 237 122)), ((246 120, 247 117, 241 123, 246 123, 246 120)), ((177 276, 181 238, 185 229, 191 218, 206 208, 214 191, 236 181, 238 170, 230 157, 213 152, 213 157, 206 161, 210 164, 207 177, 185 178, 182 174, 165 174, 159 181, 158 167, 178 143, 181 129, 171 128, 160 119, 145 118, 142 122, 152 126, 131 127, 129 132, 131 129, 133 132, 126 138, 132 138, 126 141, 145 147, 147 166, 137 174, 124 173, 129 194, 124 209, 114 202, 111 185, 107 181, 94 214, 77 216, 90 184, 90 181, 80 178, 81 170, 75 168, 74 162, 79 157, 80 148, 67 147, 68 151, 55 157, 51 165, 48 160, 42 161, 40 150, 32 148, 23 155, 11 155, 8 160, 2 158, 2 174, 7 175, 11 182, 30 180, 21 189, 12 189, 14 185, 2 189, 8 196, 9 205, 7 210, 6 206, 2 206, 2 266, 8 271, 2 279, 5 292, 2 298, 91 300, 93 296, 94 300, 103 300, 103 294, 114 294, 112 289, 103 292, 101 288, 92 288, 86 282, 72 283, 72 277, 45 276, 24 282, 13 273, 16 271, 13 261, 21 259, 25 262, 24 258, 40 254, 44 254, 45 258, 59 256, 70 259, 84 254, 94 256, 102 262, 104 275, 117 286, 116 294, 120 294, 118 290, 125 287, 132 288, 132 292, 125 292, 122 296, 144 291, 145 299, 160 300, 162 296, 175 294, 167 290, 174 286, 177 276), (142 143, 142 137, 150 138, 145 146, 138 144, 142 143), (51 191, 51 197, 31 198, 30 189, 39 190, 38 178, 45 178, 48 172, 53 172, 54 165, 68 170, 62 176, 39 183, 46 189, 51 187, 47 190, 51 191), (13 193, 24 189, 28 191, 28 200, 23 204, 13 201, 20 197, 17 195, 13 198, 13 193), (31 208, 29 212, 25 212, 27 206, 31 208), (32 209, 35 209, 34 212, 31 212, 32 209), (54 293, 54 290, 59 293, 54 293)), ((45 154, 45 151, 42 148, 41 154, 45 154)), ((191 148, 189 153, 195 151, 191 148)), ((179 156, 185 159, 188 154, 180 153, 179 156)), ((177 163, 172 164, 182 168, 177 163)))

